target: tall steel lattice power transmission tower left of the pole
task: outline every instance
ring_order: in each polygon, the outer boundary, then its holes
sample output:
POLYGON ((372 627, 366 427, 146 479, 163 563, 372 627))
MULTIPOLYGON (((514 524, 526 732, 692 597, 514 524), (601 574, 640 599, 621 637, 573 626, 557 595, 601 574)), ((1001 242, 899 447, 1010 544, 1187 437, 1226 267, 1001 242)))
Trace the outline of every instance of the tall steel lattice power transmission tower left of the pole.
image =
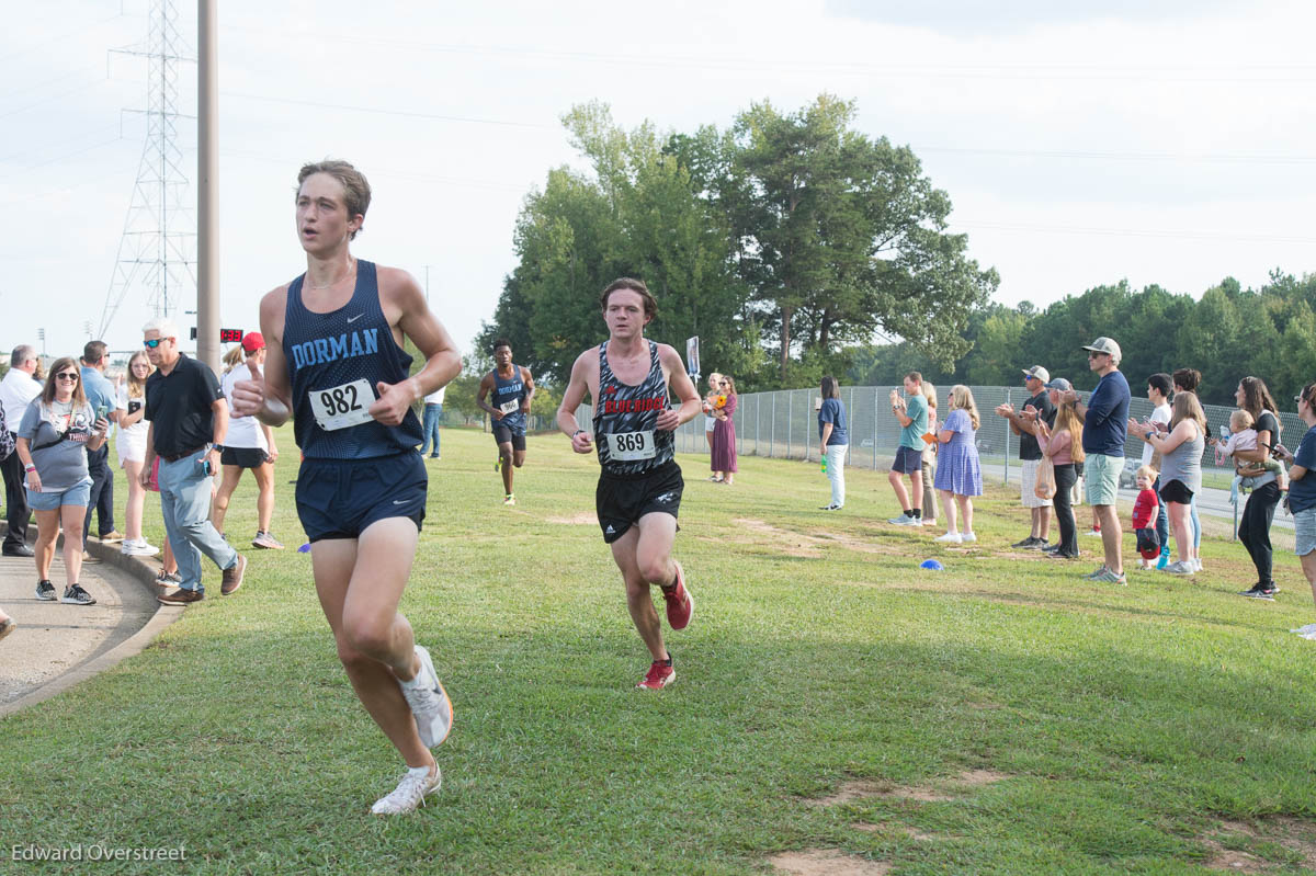
POLYGON ((147 59, 146 142, 133 184, 133 199, 118 241, 118 256, 105 295, 97 337, 108 334, 130 292, 155 316, 172 317, 184 299, 196 296, 196 212, 178 145, 178 67, 196 58, 179 54, 175 0, 151 0, 146 46, 124 54, 147 59))

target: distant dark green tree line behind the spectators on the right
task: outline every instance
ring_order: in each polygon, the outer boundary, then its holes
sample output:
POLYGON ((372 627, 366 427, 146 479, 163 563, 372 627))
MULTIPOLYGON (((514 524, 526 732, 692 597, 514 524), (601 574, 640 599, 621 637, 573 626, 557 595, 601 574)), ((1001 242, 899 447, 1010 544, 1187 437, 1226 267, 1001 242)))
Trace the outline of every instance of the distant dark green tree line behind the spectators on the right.
POLYGON ((1282 408, 1316 380, 1316 275, 1295 278, 1273 271, 1259 289, 1244 289, 1233 278, 1200 299, 1159 285, 1141 292, 1128 281, 1066 296, 1044 310, 1024 303, 975 309, 965 341, 970 351, 953 368, 924 355, 917 345, 894 343, 850 350, 848 379, 854 384, 899 383, 920 371, 933 383, 1013 385, 1020 370, 1044 366, 1080 389, 1096 380, 1087 368, 1084 343, 1105 335, 1124 353, 1120 371, 1134 391, 1148 375, 1196 368, 1199 395, 1208 404, 1233 404, 1238 380, 1266 381, 1282 408))

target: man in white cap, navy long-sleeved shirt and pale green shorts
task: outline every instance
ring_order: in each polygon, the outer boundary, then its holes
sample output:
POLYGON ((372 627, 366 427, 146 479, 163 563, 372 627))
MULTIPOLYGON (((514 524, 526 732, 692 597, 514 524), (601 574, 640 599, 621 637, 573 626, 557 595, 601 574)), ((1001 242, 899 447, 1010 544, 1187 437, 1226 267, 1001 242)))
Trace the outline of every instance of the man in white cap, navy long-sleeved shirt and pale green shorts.
POLYGON ((1101 522, 1105 562, 1087 577, 1092 581, 1128 584, 1128 579, 1124 577, 1124 560, 1120 558, 1120 516, 1115 510, 1115 496, 1120 485, 1120 471, 1124 468, 1124 441, 1128 437, 1132 397, 1129 381, 1120 374, 1123 354, 1119 343, 1103 337, 1083 349, 1087 350, 1087 367, 1095 371, 1100 380, 1086 405, 1079 402, 1078 392, 1074 389, 1063 393, 1063 397, 1078 402, 1078 416, 1083 418, 1087 504, 1101 522))

